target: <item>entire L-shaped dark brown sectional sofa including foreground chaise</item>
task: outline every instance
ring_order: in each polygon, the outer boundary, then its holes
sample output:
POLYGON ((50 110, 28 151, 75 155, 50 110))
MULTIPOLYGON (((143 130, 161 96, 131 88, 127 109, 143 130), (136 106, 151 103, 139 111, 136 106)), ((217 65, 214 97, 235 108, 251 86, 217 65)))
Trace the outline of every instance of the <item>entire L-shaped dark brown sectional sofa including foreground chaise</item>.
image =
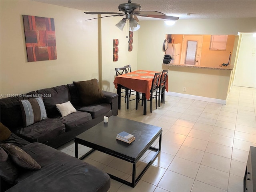
POLYGON ((104 98, 100 102, 87 106, 81 104, 80 95, 74 84, 0 99, 1 123, 12 132, 7 140, 2 141, 1 138, 1 153, 6 151, 6 149, 2 150, 3 143, 12 144, 24 150, 41 166, 40 170, 20 167, 12 162, 12 154, 9 153, 6 161, 14 164, 15 170, 18 170, 18 177, 14 182, 3 179, 6 177, 2 177, 2 171, 6 168, 2 169, 2 166, 6 162, 2 162, 4 159, 1 159, 1 191, 107 192, 110 188, 108 174, 54 149, 101 122, 103 116, 118 114, 118 95, 106 91, 102 93, 104 98), (47 118, 24 126, 24 111, 20 101, 38 96, 42 97, 47 118), (68 101, 74 106, 76 112, 62 117, 55 105, 68 101))

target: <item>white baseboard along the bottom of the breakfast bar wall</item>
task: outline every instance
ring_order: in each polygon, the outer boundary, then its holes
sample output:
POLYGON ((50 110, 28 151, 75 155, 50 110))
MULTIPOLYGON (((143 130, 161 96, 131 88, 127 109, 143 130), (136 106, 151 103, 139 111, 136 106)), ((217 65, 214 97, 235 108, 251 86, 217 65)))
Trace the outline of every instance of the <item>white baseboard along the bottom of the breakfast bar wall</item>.
POLYGON ((226 104, 226 100, 222 100, 222 99, 188 95, 188 94, 182 94, 182 93, 176 93, 176 92, 165 92, 165 93, 166 95, 170 95, 170 96, 176 96, 176 97, 182 97, 182 98, 194 99, 194 100, 200 100, 200 101, 206 101, 206 102, 212 102, 212 103, 226 104))

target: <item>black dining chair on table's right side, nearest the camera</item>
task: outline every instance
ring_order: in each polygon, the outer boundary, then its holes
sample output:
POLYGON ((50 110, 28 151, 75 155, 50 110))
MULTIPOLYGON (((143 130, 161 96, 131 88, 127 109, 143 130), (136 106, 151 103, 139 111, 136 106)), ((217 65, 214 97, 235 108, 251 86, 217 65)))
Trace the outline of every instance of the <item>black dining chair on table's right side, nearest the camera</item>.
MULTIPOLYGON (((158 97, 158 84, 160 81, 160 77, 161 77, 161 72, 159 73, 155 73, 154 78, 153 78, 153 82, 152 82, 152 86, 150 89, 150 99, 148 101, 150 101, 150 113, 152 113, 152 101, 153 99, 156 99, 156 109, 157 109, 157 97, 158 97)), ((142 93, 142 105, 143 105, 143 100, 146 99, 145 97, 146 95, 144 93, 142 93)))

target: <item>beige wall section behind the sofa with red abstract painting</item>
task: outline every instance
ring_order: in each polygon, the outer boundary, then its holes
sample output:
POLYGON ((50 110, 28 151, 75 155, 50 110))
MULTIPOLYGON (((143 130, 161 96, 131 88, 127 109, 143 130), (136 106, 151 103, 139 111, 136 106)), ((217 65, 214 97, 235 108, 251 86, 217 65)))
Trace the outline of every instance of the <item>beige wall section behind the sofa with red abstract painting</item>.
POLYGON ((0 3, 1 94, 98 78, 97 22, 85 22, 81 10, 61 6, 34 1, 0 3), (57 60, 27 62, 22 14, 54 18, 57 60))

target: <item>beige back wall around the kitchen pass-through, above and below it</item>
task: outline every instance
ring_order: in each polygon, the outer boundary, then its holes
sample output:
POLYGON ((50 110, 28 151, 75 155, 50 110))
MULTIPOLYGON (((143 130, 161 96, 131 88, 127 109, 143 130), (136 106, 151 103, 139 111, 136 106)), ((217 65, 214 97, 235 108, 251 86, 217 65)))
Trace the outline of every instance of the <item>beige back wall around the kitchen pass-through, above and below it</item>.
MULTIPOLYGON (((162 45, 166 34, 237 35, 238 32, 256 32, 256 18, 178 20, 174 26, 166 26, 163 21, 140 21, 140 25, 138 69, 156 71, 163 69, 162 45)), ((168 68, 169 92, 226 100, 230 72, 168 68), (183 87, 186 87, 186 92, 183 92, 183 87)))

